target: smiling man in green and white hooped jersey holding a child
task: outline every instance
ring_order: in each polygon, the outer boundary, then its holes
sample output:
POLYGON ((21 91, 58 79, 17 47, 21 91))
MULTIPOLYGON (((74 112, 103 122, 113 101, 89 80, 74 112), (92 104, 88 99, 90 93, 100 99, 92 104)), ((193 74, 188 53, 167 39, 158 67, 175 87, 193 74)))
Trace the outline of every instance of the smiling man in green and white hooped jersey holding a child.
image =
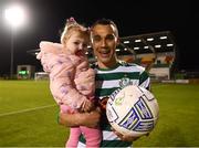
MULTIPOLYGON (((144 67, 136 64, 118 62, 116 46, 119 44, 118 30, 116 24, 106 19, 96 21, 91 28, 91 41, 96 56, 96 93, 100 101, 107 98, 115 89, 126 85, 139 85, 149 88, 149 77, 144 67)), ((111 128, 105 110, 96 109, 82 114, 60 114, 60 123, 65 126, 88 126, 101 125, 103 133, 102 147, 130 147, 137 138, 123 136, 111 128)), ((78 146, 83 147, 85 140, 80 139, 78 146)))

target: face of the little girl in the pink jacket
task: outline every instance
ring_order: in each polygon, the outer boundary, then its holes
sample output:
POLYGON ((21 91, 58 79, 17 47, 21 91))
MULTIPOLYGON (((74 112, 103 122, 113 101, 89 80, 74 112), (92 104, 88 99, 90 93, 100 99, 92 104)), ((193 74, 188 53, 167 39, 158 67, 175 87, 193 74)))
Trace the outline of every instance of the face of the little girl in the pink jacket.
POLYGON ((65 41, 67 54, 84 55, 87 51, 90 36, 81 32, 72 32, 65 41))

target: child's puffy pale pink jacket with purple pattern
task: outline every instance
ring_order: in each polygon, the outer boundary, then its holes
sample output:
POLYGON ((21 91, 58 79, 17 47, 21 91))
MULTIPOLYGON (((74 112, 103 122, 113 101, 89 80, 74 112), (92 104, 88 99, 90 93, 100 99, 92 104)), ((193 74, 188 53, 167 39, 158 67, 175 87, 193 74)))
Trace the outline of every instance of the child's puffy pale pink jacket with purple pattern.
POLYGON ((40 49, 36 59, 50 74, 50 89, 57 104, 77 109, 94 97, 95 73, 85 56, 66 55, 59 43, 43 41, 40 49))

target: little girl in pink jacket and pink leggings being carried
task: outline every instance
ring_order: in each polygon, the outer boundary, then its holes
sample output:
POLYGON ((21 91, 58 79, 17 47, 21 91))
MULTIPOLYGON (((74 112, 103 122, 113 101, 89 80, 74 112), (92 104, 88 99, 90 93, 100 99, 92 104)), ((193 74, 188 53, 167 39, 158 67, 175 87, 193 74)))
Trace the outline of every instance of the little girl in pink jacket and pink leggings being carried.
MULTIPOLYGON (((50 74, 50 89, 61 112, 91 112, 94 109, 95 73, 85 56, 90 32, 73 18, 69 19, 60 43, 41 42, 43 70, 50 74)), ((100 147, 102 134, 97 128, 73 127, 66 147, 77 147, 80 135, 87 147, 100 147)))

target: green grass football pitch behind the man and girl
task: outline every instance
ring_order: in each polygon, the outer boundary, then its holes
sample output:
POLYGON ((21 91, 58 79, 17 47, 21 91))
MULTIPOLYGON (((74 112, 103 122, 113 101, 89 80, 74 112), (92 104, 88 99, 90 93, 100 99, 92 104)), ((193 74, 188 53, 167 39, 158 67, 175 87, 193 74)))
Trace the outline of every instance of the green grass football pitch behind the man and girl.
MULTIPOLYGON (((199 85, 153 84, 159 120, 135 147, 199 147, 199 85)), ((46 81, 0 81, 0 147, 64 147, 46 81)))

